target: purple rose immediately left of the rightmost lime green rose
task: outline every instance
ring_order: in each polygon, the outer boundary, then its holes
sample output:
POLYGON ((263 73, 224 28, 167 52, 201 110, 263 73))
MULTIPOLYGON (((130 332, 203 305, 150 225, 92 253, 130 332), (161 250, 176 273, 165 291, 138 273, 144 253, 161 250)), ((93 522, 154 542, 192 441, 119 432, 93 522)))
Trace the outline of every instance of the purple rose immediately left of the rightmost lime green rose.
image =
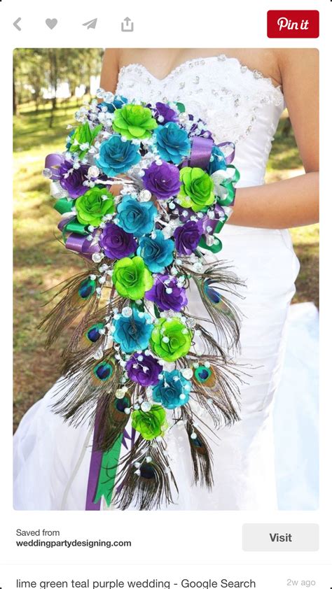
POLYGON ((162 162, 161 166, 153 162, 144 170, 143 184, 160 199, 175 197, 181 186, 179 168, 167 162, 162 162))

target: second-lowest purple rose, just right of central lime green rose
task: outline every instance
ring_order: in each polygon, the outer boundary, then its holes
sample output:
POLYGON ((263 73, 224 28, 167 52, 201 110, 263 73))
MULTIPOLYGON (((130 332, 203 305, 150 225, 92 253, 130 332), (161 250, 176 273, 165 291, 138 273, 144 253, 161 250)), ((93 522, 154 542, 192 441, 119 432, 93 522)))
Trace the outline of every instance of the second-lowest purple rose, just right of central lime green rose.
POLYGON ((186 289, 173 276, 158 274, 151 290, 145 293, 148 301, 155 303, 162 311, 181 311, 188 299, 186 289))

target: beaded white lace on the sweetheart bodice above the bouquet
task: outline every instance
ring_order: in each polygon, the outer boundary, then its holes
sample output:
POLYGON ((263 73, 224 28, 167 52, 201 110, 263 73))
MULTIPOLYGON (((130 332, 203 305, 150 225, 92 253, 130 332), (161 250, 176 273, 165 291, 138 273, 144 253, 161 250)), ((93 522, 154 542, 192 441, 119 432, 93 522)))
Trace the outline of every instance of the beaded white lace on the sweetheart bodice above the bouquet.
POLYGON ((191 113, 207 122, 214 139, 232 136, 234 143, 251 133, 262 106, 284 106, 282 90, 270 78, 226 55, 189 59, 165 78, 156 78, 141 64, 128 64, 120 69, 116 91, 147 102, 186 102, 191 113))

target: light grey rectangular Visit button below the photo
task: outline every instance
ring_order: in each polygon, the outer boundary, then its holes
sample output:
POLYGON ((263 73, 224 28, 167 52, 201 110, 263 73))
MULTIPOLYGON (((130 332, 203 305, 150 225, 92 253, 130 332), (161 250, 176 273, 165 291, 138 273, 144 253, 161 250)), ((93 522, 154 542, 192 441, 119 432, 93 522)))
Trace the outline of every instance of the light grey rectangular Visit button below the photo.
POLYGON ((316 523, 245 523, 242 548, 247 552, 314 552, 319 549, 316 523))

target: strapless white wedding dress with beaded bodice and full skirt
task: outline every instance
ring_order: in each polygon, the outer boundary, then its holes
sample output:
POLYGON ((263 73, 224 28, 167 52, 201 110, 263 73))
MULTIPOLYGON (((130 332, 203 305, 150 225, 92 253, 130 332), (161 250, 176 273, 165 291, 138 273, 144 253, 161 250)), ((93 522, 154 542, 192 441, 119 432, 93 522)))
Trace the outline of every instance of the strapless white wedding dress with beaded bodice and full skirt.
MULTIPOLYGON (((271 141, 284 110, 282 91, 257 71, 223 55, 193 59, 159 80, 144 66, 121 69, 117 92, 128 99, 181 101, 207 122, 217 143, 236 143, 239 187, 261 185, 271 141)), ((165 509, 276 509, 272 406, 282 374, 285 325, 299 264, 285 229, 226 225, 223 251, 246 282, 237 362, 248 375, 241 387, 241 421, 210 440, 214 488, 192 484, 188 439, 181 427, 168 437, 171 466, 179 487, 165 509)), ((204 308, 191 299, 195 313, 204 308)), ((15 509, 85 509, 92 434, 62 422, 51 411, 57 385, 23 418, 15 434, 15 509)), ((102 509, 107 509, 102 506, 102 509)), ((112 508, 111 508, 112 509, 112 508)), ((134 509, 134 507, 133 507, 134 509)))

